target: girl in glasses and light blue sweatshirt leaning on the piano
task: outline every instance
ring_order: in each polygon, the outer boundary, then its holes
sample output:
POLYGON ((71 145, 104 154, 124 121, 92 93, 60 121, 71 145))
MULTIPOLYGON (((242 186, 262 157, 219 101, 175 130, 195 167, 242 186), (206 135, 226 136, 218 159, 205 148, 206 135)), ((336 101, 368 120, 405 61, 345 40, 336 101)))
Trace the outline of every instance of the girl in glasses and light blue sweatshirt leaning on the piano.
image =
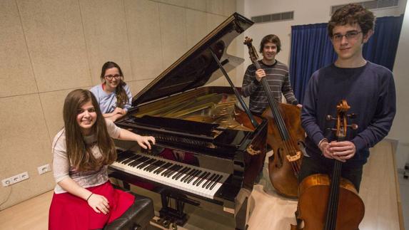
POLYGON ((112 61, 103 64, 101 81, 101 84, 91 88, 91 92, 99 103, 103 117, 116 121, 131 108, 131 91, 123 81, 121 68, 112 61))

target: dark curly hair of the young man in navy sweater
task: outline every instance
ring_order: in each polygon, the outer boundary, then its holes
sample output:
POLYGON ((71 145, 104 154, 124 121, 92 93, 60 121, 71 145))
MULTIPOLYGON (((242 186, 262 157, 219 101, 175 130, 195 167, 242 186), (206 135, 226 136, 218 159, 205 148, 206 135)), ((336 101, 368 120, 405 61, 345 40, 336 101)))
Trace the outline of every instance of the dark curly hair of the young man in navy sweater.
POLYGON ((333 37, 333 28, 335 26, 353 25, 358 23, 362 29, 363 35, 373 30, 375 26, 375 16, 360 4, 348 4, 337 9, 328 22, 328 36, 333 37))

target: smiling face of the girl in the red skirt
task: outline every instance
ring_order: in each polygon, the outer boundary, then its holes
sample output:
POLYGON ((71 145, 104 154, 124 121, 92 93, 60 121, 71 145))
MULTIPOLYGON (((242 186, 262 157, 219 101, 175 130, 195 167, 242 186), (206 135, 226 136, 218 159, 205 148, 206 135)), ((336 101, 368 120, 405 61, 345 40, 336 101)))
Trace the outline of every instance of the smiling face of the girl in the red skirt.
POLYGON ((78 109, 76 115, 76 122, 81 128, 81 132, 84 135, 90 135, 91 129, 96 122, 96 110, 92 105, 91 100, 81 106, 78 109))

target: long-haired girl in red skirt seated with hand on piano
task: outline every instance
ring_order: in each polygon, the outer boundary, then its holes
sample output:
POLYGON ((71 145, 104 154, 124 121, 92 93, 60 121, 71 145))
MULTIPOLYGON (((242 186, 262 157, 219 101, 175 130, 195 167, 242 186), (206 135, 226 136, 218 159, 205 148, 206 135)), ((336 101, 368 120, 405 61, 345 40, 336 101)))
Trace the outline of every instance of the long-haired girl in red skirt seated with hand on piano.
POLYGON ((112 138, 134 140, 143 148, 155 144, 117 127, 101 114, 89 90, 74 90, 64 102, 64 129, 52 150, 56 188, 49 211, 49 229, 103 229, 134 202, 131 194, 113 189, 108 164, 116 160, 112 138))

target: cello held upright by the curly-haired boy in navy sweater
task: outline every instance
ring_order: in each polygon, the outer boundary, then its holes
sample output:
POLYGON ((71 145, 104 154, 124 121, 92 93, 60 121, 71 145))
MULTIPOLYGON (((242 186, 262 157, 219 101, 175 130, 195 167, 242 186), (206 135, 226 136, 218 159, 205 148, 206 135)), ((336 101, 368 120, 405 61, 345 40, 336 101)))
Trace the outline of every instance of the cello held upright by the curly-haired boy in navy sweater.
MULTIPOLYGON (((346 112, 350 106, 346 100, 337 105, 335 136, 344 141, 347 127, 355 130, 355 124, 347 125, 346 112)), ((333 120, 328 115, 327 120, 333 120)), ((365 206, 353 184, 341 175, 342 162, 334 160, 333 174, 312 174, 300 184, 298 219, 304 227, 291 225, 291 230, 357 230, 365 214, 365 206)))

